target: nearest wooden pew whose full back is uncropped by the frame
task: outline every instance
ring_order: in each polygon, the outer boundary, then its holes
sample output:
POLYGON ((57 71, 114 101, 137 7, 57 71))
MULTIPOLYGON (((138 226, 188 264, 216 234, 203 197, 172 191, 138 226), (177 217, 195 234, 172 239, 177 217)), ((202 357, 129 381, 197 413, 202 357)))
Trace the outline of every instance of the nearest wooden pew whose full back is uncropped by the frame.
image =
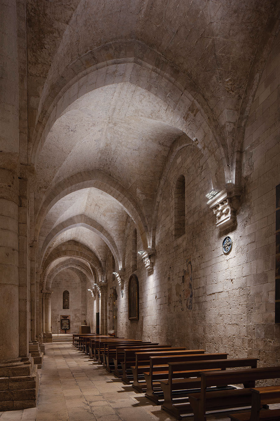
MULTIPOLYGON (((207 354, 205 354, 207 355, 207 354)), ((226 355, 226 354, 225 354, 226 355)), ((191 389, 198 389, 201 384, 201 372, 215 370, 225 370, 226 368, 251 367, 256 368, 257 358, 230 358, 230 359, 212 359, 197 360, 193 362, 170 362, 168 365, 167 380, 160 381, 160 386, 164 393, 164 402, 162 409, 177 419, 181 419, 182 413, 192 412, 188 396, 191 389), (192 370, 191 375, 186 373, 192 370), (182 374, 180 377, 180 373, 182 374), (192 377, 192 378, 190 378, 192 377), (177 401, 176 401, 177 398, 177 401), (178 398, 180 405, 177 405, 178 398)), ((197 391, 198 392, 198 391, 197 391)), ((149 389, 149 395, 156 397, 149 389)))

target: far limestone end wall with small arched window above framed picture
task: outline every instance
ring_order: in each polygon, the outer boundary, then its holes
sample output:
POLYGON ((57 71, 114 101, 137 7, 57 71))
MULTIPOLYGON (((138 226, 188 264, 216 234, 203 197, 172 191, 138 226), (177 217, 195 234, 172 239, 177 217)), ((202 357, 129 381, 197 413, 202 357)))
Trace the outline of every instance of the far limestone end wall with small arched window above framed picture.
POLYGON ((73 270, 64 269, 52 281, 52 334, 57 333, 60 328, 62 314, 70 315, 70 330, 67 333, 79 332, 79 326, 86 318, 86 282, 82 275, 78 276, 73 270), (65 290, 69 291, 69 309, 63 309, 65 290))

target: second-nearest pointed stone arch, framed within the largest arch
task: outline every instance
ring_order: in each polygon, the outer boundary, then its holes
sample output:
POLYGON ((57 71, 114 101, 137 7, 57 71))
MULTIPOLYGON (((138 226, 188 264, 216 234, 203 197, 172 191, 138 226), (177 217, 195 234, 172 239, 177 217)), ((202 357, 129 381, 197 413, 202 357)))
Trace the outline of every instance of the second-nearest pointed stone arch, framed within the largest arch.
POLYGON ((39 211, 36 223, 36 236, 39 235, 39 231, 42 226, 42 221, 47 215, 48 211, 52 208, 55 203, 58 202, 62 197, 65 197, 69 193, 75 192, 79 189, 87 187, 95 187, 103 192, 108 193, 114 197, 123 206, 128 215, 135 222, 138 232, 141 236, 143 247, 147 248, 149 245, 149 225, 147 218, 143 215, 139 204, 136 202, 134 197, 123 187, 122 184, 114 180, 101 171, 83 171, 82 173, 73 174, 61 181, 56 187, 50 188, 44 197, 41 209, 39 211))

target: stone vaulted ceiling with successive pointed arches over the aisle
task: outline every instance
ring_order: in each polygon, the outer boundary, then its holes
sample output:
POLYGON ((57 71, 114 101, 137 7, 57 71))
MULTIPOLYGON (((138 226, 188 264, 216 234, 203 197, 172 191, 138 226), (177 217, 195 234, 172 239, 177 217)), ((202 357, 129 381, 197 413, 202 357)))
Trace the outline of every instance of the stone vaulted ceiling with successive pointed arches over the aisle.
POLYGON ((143 247, 152 246, 157 194, 182 136, 204 151, 213 184, 239 182, 242 130, 279 5, 27 4, 28 149, 40 259, 46 264, 62 245, 78 244, 92 251, 97 272, 108 250, 121 267, 128 218, 143 247))

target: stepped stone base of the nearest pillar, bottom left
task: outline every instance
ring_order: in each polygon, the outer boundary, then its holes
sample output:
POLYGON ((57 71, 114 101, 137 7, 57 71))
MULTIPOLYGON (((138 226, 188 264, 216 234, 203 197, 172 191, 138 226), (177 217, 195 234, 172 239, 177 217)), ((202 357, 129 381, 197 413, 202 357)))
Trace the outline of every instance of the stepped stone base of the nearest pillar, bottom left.
POLYGON ((32 358, 0 362, 0 411, 34 408, 38 389, 37 365, 32 358))

